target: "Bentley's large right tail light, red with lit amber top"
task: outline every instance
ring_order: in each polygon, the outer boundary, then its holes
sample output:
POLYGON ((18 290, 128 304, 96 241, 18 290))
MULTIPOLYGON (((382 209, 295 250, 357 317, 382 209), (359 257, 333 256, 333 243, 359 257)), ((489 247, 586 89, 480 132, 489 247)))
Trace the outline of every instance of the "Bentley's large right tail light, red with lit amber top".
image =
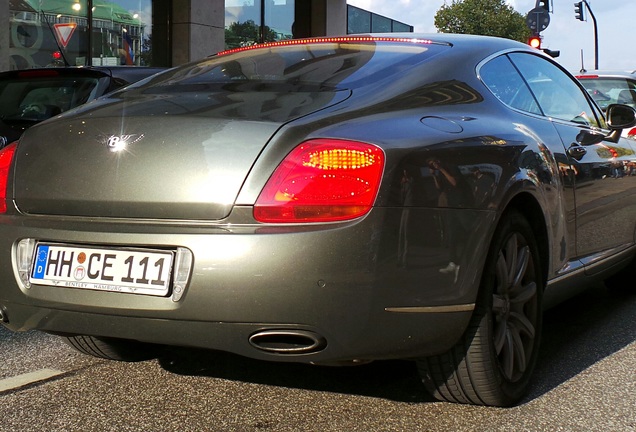
POLYGON ((260 222, 333 222, 366 214, 378 193, 384 152, 357 141, 315 139, 287 155, 254 205, 260 222))

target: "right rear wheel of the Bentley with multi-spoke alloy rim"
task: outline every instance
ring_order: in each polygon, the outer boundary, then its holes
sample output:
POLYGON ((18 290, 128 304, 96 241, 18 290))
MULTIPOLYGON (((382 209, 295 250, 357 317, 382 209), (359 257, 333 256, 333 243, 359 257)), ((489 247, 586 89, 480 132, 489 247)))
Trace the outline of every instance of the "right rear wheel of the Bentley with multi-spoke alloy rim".
POLYGON ((490 245, 466 333, 449 352, 417 362, 436 399, 510 406, 526 394, 541 339, 539 263, 528 221, 508 212, 490 245))

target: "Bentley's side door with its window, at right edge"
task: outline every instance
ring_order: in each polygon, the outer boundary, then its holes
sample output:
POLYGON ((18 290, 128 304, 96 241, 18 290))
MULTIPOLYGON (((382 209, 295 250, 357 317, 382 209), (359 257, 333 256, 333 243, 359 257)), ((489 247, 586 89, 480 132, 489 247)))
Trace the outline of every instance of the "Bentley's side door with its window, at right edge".
POLYGON ((566 148, 566 179, 574 187, 576 254, 589 268, 634 243, 636 153, 627 139, 605 138, 609 131, 600 110, 557 65, 527 53, 509 57, 566 148))

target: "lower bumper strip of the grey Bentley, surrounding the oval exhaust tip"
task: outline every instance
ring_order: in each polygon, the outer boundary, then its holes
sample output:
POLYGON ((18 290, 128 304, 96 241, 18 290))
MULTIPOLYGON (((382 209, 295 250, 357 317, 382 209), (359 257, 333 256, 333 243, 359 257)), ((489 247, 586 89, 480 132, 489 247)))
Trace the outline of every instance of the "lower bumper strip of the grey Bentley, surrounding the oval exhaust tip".
MULTIPOLYGON (((470 312, 381 314, 357 329, 289 323, 225 323, 100 315, 5 304, 11 329, 91 334, 172 346, 227 351, 261 360, 334 362, 410 358, 450 349, 463 334, 470 312), (25 320, 27 318, 27 320, 25 320), (253 336, 275 331, 263 343, 253 336), (305 335, 307 339, 298 336, 305 335), (310 346, 309 335, 321 344, 310 346), (254 341, 254 342, 251 342, 254 341), (271 347, 276 346, 276 349, 271 347)), ((337 324, 337 323, 336 323, 337 324)))

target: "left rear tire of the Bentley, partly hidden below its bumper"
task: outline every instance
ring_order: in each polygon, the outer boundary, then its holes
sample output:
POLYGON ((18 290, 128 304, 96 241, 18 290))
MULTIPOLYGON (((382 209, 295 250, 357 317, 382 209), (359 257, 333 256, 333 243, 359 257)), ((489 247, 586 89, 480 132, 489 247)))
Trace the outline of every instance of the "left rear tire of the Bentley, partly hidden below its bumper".
POLYGON ((64 341, 82 354, 107 360, 137 362, 157 357, 157 348, 138 341, 96 336, 63 336, 64 341))

